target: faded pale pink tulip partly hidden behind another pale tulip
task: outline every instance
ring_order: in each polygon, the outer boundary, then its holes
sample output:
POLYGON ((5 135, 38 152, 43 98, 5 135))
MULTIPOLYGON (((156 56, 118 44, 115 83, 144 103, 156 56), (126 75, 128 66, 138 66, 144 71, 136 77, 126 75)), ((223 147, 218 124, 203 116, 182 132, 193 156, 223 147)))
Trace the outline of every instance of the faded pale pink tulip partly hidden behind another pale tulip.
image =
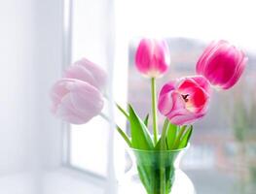
POLYGON ((107 81, 106 72, 86 58, 71 65, 65 71, 64 78, 89 82, 99 90, 103 89, 107 81))

